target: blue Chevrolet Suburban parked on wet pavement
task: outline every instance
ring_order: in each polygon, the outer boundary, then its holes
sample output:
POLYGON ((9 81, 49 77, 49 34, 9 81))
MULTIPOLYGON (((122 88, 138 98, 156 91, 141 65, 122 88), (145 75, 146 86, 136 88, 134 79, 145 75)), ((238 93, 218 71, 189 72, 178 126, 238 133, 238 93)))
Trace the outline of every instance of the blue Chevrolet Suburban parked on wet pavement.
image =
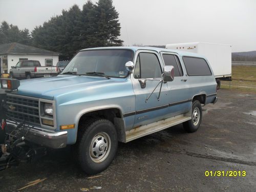
POLYGON ((56 77, 16 81, 1 79, 7 133, 51 148, 72 145, 88 174, 110 165, 118 141, 179 123, 197 131, 202 105, 217 101, 204 56, 153 47, 84 49, 56 77))

